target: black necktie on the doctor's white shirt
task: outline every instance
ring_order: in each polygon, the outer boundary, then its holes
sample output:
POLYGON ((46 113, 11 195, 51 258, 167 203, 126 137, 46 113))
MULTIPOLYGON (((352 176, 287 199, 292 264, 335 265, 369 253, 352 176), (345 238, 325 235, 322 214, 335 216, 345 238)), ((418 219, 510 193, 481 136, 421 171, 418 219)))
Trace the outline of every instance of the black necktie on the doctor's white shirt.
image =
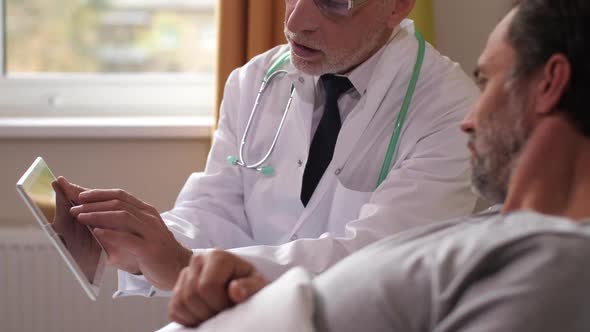
POLYGON ((338 110, 338 98, 352 87, 350 80, 343 76, 325 74, 320 77, 324 85, 326 100, 324 114, 318 124, 311 146, 309 157, 303 172, 303 185, 301 187, 301 202, 307 206, 315 187, 320 182, 324 171, 332 161, 334 147, 340 131, 340 111, 338 110))

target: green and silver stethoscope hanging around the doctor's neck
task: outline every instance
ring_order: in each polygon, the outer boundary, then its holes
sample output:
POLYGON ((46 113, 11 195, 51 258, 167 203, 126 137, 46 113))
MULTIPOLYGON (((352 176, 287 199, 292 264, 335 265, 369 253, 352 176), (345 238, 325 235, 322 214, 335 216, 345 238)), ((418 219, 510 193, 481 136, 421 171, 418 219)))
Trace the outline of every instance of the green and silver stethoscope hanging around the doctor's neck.
MULTIPOLYGON (((387 177, 389 173, 389 169, 391 168, 391 163, 393 161, 393 156, 397 150, 397 145, 399 138, 401 136, 401 131, 406 121, 406 115, 408 113, 408 109, 410 108, 410 104, 412 103, 412 98, 414 96, 414 92, 416 90, 416 84, 418 83, 418 78, 420 77, 420 70, 422 69, 422 63, 424 62, 424 53, 426 49, 426 43, 424 42, 424 37, 419 31, 415 32, 416 39, 418 40, 418 54, 416 56, 416 63, 414 64, 414 70, 412 72, 412 78, 408 83, 408 88, 406 90, 406 95, 404 97, 404 101, 402 103, 401 110, 397 116, 397 120, 395 123, 395 127, 393 129, 393 133, 391 134, 391 139, 389 141, 389 145, 387 146, 387 152, 385 154, 385 159, 383 160, 383 165, 381 166, 381 172, 379 173, 379 179, 377 180, 377 186, 379 186, 387 177)), ((252 120, 254 119, 254 115, 258 110, 258 105, 260 104, 260 100, 262 95, 268 85, 274 80, 279 74, 286 74, 287 71, 283 68, 283 65, 290 61, 290 52, 286 52, 285 54, 281 55, 279 59, 277 59, 271 66, 267 73, 264 75, 262 79, 262 84, 260 85, 260 89, 258 90, 258 94, 256 95, 256 100, 254 101, 254 106, 252 107, 252 112, 250 113, 250 117, 248 118, 248 122, 246 123, 246 129, 244 130, 244 134, 242 135, 242 140, 240 142, 239 148, 239 158, 234 156, 228 156, 227 161, 231 165, 241 166, 246 169, 256 170, 264 175, 271 176, 274 174, 274 167, 272 165, 265 165, 264 163, 268 161, 270 155, 274 151, 276 143, 279 139, 281 134, 281 130, 283 129, 283 125, 285 124, 285 119, 287 118, 287 114, 289 113, 289 109, 291 107, 291 102, 293 101, 293 92, 295 87, 291 84, 291 91, 289 94, 289 100, 287 101, 287 106, 285 106, 285 111, 283 112, 283 117, 281 118, 281 122, 277 128, 275 136, 272 140, 272 144, 270 148, 266 152, 266 154, 255 163, 248 163, 246 161, 246 157, 244 154, 244 147, 246 145, 246 140, 248 138, 248 134, 250 132, 250 126, 252 124, 252 120)))

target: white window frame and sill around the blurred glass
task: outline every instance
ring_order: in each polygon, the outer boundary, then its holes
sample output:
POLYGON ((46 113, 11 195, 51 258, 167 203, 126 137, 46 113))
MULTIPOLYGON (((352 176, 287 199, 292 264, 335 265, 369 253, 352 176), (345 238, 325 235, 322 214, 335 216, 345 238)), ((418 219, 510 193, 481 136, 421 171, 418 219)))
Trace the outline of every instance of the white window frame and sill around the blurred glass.
POLYGON ((8 75, 6 5, 0 0, 0 137, 210 136, 216 86, 210 75, 8 75), (206 108, 209 115, 197 115, 206 108))

